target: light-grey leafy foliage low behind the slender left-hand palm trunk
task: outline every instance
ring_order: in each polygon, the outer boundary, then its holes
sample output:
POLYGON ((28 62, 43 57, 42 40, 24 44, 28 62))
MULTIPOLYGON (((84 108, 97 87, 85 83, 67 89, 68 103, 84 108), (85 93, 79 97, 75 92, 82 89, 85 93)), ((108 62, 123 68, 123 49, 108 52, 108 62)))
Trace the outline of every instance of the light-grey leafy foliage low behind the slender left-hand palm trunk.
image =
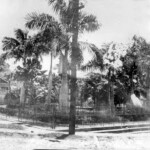
MULTIPOLYGON (((29 104, 44 104, 46 102, 46 97, 48 95, 48 76, 44 71, 38 72, 38 74, 33 78, 32 82, 27 85, 27 98, 29 99, 29 104)), ((53 74, 52 82, 52 103, 58 103, 60 88, 60 77, 53 74)))

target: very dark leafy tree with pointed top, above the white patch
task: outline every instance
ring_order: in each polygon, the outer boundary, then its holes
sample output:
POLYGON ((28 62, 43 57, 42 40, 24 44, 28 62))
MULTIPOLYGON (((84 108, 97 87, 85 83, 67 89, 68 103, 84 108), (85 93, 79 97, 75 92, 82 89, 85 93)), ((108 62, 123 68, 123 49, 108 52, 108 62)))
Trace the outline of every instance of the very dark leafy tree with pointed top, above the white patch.
POLYGON ((122 69, 118 70, 116 74, 116 84, 122 87, 129 96, 138 86, 140 70, 137 57, 135 51, 129 49, 126 56, 121 58, 122 69))

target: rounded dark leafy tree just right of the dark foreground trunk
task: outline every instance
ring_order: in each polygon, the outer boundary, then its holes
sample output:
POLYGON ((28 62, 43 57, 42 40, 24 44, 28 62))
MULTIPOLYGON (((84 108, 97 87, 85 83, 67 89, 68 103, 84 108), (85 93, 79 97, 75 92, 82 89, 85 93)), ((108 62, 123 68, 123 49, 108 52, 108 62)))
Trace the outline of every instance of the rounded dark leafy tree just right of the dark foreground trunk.
POLYGON ((101 109, 107 104, 107 80, 99 73, 91 73, 81 84, 81 101, 92 97, 95 109, 101 109), (103 95, 105 95, 103 97, 103 95))

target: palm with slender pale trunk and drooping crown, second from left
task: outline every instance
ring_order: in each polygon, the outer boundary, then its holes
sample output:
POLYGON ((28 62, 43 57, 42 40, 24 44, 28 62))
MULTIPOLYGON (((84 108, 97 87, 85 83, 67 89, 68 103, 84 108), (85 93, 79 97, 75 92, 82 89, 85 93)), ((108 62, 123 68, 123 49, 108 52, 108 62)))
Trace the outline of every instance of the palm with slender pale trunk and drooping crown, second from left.
POLYGON ((57 54, 57 37, 60 35, 58 22, 48 14, 32 13, 27 16, 26 27, 40 30, 40 40, 47 47, 45 53, 50 55, 47 103, 51 102, 53 57, 57 54))

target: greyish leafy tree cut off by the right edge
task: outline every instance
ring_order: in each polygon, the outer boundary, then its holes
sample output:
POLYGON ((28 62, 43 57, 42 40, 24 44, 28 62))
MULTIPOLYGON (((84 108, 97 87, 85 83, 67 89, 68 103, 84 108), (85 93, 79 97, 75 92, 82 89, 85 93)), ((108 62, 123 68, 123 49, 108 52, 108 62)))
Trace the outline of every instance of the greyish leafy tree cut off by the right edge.
POLYGON ((149 55, 150 55, 150 44, 142 37, 133 37, 133 44, 131 50, 134 51, 136 56, 135 64, 137 65, 135 75, 135 81, 140 91, 146 89, 147 100, 150 100, 150 76, 149 76, 149 55))

